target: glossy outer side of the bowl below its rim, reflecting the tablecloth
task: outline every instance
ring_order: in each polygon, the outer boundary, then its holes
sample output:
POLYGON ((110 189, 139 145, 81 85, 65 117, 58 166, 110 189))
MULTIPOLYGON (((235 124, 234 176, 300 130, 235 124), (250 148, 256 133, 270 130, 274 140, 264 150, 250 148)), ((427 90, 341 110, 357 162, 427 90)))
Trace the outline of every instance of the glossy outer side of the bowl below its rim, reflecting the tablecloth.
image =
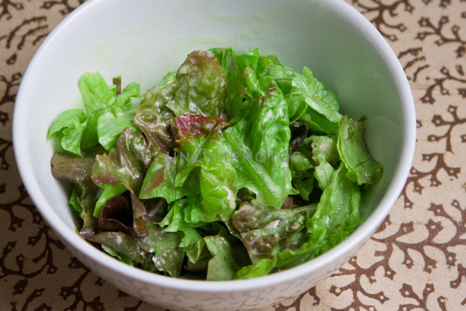
POLYGON ((327 262, 325 268, 302 274, 283 282, 274 284, 265 283, 255 289, 228 291, 185 290, 144 282, 137 277, 115 273, 113 269, 109 269, 108 265, 90 259, 87 254, 82 253, 66 240, 61 240, 79 261, 98 276, 125 293, 137 297, 144 302, 159 305, 173 311, 246 311, 266 308, 309 290, 320 280, 330 276, 332 272, 346 263, 367 242, 367 239, 349 249, 344 256, 333 258, 327 262))

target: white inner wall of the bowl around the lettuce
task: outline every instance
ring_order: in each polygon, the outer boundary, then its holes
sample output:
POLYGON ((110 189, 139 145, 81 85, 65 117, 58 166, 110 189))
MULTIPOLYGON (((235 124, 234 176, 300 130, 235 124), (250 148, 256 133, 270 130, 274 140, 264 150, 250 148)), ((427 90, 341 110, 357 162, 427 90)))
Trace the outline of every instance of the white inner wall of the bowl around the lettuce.
POLYGON ((92 1, 53 33, 23 81, 15 147, 21 140, 17 157, 31 167, 27 179, 39 185, 53 211, 74 230, 69 187, 50 173, 59 144, 46 136, 62 111, 82 108, 77 87, 82 73, 98 70, 109 82, 121 75, 123 85, 135 81, 144 91, 178 69, 192 50, 258 47, 295 70, 308 66, 336 92, 343 114, 368 118, 365 140, 384 167, 380 183, 363 196, 363 214, 369 215, 397 172, 405 117, 392 69, 373 43, 329 5, 335 2, 92 1))

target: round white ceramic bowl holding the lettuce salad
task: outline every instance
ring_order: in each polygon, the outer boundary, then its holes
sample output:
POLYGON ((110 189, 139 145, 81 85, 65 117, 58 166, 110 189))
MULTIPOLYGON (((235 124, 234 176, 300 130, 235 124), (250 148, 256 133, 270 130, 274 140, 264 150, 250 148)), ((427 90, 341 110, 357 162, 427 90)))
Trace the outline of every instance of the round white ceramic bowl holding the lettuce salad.
POLYGON ((388 214, 411 167, 416 118, 411 90, 396 55, 363 15, 343 0, 89 0, 42 43, 16 98, 14 152, 34 204, 71 252, 119 289, 177 310, 253 310, 314 286, 359 249, 388 214), (365 139, 384 167, 363 195, 367 218, 334 249, 272 275, 227 282, 192 281, 130 267, 75 234, 69 187, 50 173, 57 144, 48 127, 65 109, 81 107, 85 71, 151 88, 199 47, 258 47, 284 64, 312 69, 335 90, 341 111, 368 117, 365 139))

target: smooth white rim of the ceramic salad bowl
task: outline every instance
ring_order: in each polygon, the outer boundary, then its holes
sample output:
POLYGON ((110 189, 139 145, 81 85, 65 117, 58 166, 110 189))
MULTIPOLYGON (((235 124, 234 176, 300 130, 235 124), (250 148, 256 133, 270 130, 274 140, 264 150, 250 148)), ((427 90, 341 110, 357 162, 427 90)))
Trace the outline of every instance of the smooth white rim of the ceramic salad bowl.
POLYGON ((86 11, 91 10, 103 1, 105 0, 89 0, 85 2, 65 17, 52 30, 52 32, 50 32, 27 66, 21 80, 14 105, 13 146, 14 156, 21 180, 43 219, 53 229, 55 234, 62 239, 62 241, 66 241, 76 251, 79 251, 83 255, 89 257, 89 259, 105 266, 107 269, 144 283, 191 291, 244 291, 284 283, 312 273, 315 270, 322 269, 327 263, 332 262, 332 260, 345 256, 345 254, 351 252, 355 247, 359 248, 359 245, 365 242, 378 228, 382 221, 384 221, 384 218, 390 212, 391 207, 395 204, 404 188, 414 157, 414 148, 416 143, 416 113, 411 88, 395 52, 391 49, 387 41, 385 41, 384 37, 378 32, 377 28, 370 23, 370 21, 368 21, 361 13, 359 13, 354 7, 351 7, 344 0, 319 0, 322 5, 329 7, 336 14, 340 14, 342 18, 351 22, 353 27, 361 32, 377 50, 379 55, 381 55, 396 84, 397 91, 401 99, 404 117, 403 147, 394 177, 378 206, 363 222, 363 224, 350 235, 350 238, 345 239, 326 253, 296 267, 254 279, 232 281, 199 281, 158 275, 139 268, 131 267, 105 254, 103 251, 96 249, 95 247, 89 247, 89 243, 84 241, 79 235, 76 235, 75 231, 70 229, 54 212, 48 201, 45 199, 45 196, 41 193, 39 181, 35 178, 28 178, 29 172, 32 171, 33 163, 29 157, 22 156, 23 154, 29 154, 27 152, 29 146, 21 139, 25 134, 21 127, 21 121, 26 118, 26 109, 23 109, 26 102, 23 100, 23 97, 25 97, 24 94, 27 92, 27 85, 34 81, 33 76, 29 73, 38 62, 43 51, 53 43, 55 36, 60 35, 62 28, 66 27, 69 21, 72 21, 80 14, 85 14, 86 11))

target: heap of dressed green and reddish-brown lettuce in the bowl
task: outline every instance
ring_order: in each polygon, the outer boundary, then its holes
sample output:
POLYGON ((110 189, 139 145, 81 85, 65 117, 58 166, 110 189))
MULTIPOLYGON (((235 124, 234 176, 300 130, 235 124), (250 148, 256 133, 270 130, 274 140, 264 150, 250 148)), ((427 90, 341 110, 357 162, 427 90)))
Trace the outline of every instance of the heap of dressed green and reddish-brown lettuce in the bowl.
POLYGON ((124 263, 200 280, 264 276, 304 263, 361 221, 361 186, 382 167, 363 120, 336 94, 258 49, 190 53, 141 95, 98 72, 84 109, 48 138, 55 178, 74 183, 79 235, 124 263), (139 100, 140 98, 140 100, 139 100))

